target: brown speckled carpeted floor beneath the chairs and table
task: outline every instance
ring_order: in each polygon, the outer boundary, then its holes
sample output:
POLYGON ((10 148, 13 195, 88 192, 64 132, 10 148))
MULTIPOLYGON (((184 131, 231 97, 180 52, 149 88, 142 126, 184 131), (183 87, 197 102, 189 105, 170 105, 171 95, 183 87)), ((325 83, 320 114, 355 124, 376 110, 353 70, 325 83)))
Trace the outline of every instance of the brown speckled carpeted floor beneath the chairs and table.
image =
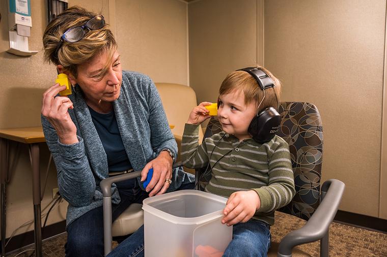
MULTIPOLYGON (((271 228, 272 241, 279 242, 287 233, 296 230, 305 223, 294 216, 281 212, 275 214, 275 224, 271 228)), ((66 233, 43 242, 43 256, 65 256, 64 245, 66 233)), ((117 243, 115 243, 117 245, 117 243)), ((30 256, 33 246, 26 252, 15 252, 8 256, 30 256)), ((312 256, 319 256, 320 243, 310 243, 299 246, 312 256)), ((25 249, 23 249, 25 250, 25 249)), ((360 229, 345 224, 333 222, 329 231, 330 256, 380 256, 387 257, 387 234, 360 229)))

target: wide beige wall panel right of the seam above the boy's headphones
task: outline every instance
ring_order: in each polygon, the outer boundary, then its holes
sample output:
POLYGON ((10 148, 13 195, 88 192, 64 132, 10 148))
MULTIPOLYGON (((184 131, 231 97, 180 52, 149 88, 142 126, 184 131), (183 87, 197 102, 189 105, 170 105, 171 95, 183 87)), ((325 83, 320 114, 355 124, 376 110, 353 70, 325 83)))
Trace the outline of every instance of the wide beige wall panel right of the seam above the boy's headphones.
POLYGON ((283 100, 321 112, 322 180, 346 190, 341 210, 378 217, 385 1, 265 1, 265 66, 283 100))

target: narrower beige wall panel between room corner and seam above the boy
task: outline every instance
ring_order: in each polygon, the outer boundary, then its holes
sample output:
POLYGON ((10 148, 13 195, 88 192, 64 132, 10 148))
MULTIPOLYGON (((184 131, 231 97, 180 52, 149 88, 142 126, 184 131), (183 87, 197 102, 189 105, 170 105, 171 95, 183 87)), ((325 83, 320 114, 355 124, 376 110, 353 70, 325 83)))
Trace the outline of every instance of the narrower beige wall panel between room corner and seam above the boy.
POLYGON ((257 63, 257 0, 192 2, 188 17, 190 86, 215 102, 228 73, 257 63))

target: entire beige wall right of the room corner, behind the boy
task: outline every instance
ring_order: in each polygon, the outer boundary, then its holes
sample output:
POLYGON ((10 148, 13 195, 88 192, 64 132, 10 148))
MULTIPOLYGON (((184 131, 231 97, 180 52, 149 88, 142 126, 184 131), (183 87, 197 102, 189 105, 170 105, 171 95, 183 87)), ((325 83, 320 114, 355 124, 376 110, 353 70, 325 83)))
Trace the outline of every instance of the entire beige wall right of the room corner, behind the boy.
POLYGON ((340 209, 378 217, 385 1, 264 1, 264 27, 260 3, 189 3, 198 101, 215 101, 226 74, 260 62, 264 49, 264 65, 284 83, 282 100, 311 102, 321 112, 322 180, 346 183, 340 209))

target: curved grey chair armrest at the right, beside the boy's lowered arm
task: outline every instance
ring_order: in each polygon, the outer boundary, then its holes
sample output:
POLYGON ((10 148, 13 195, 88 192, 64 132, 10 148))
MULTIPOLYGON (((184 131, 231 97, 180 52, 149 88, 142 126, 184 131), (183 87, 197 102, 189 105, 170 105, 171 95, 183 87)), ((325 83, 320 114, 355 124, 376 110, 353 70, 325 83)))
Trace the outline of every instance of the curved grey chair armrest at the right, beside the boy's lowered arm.
POLYGON ((337 179, 329 179, 321 186, 322 200, 312 217, 300 229, 287 234, 280 242, 278 256, 289 257, 296 245, 317 241, 328 232, 343 196, 345 184, 337 179))

